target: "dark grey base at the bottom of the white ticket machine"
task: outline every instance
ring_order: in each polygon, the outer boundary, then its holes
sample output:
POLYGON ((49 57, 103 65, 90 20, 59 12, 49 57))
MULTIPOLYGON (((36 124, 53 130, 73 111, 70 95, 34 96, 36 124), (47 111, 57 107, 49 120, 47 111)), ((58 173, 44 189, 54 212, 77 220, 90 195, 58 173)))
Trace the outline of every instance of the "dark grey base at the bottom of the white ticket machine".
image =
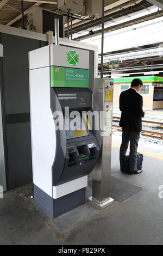
POLYGON ((35 202, 51 218, 56 218, 65 212, 71 211, 85 204, 85 187, 54 199, 34 185, 35 202))

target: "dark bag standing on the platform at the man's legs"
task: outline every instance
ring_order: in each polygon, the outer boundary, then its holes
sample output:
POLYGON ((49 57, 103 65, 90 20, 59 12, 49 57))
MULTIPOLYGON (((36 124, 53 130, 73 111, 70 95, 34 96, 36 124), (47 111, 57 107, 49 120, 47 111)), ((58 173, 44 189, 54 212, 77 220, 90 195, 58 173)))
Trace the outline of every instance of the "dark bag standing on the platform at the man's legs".
MULTIPOLYGON (((143 161, 143 154, 137 153, 137 170, 142 169, 142 161, 143 161)), ((124 156, 122 159, 122 167, 121 171, 124 173, 129 173, 130 171, 130 156, 124 156)))

